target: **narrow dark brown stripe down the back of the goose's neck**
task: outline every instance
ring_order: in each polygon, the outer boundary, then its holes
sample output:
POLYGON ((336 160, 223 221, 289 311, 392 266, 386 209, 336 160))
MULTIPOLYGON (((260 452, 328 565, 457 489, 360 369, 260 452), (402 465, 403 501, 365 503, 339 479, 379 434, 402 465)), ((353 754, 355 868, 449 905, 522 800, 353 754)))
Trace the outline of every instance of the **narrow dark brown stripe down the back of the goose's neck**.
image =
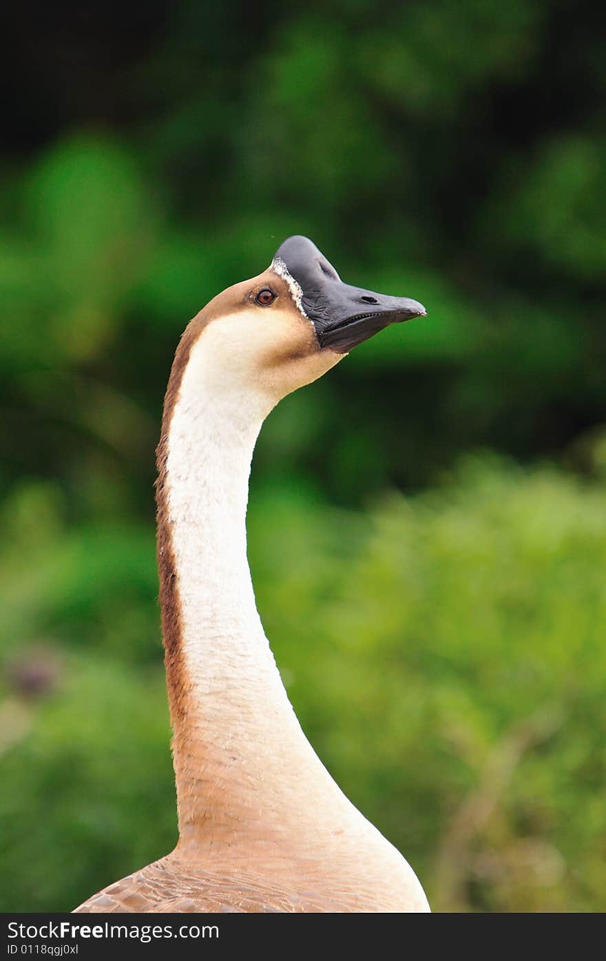
POLYGON ((191 349, 210 319, 211 317, 208 316, 207 311, 201 310, 200 313, 190 321, 182 333, 164 396, 162 427, 158 448, 156 450, 158 465, 156 517, 159 601, 161 607, 168 705, 174 728, 179 727, 185 718, 187 679, 182 654, 181 600, 179 596, 177 564, 173 550, 170 510, 168 505, 168 433, 191 349))

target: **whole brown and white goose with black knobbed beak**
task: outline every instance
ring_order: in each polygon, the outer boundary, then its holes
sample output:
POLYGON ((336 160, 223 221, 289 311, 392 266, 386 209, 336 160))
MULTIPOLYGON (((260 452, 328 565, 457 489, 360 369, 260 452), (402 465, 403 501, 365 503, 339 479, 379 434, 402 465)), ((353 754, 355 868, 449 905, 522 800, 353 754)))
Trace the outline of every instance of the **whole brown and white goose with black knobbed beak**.
POLYGON ((255 606, 248 481, 270 410, 414 300, 343 283, 291 236, 189 323, 158 444, 158 574, 175 850, 77 912, 424 912, 416 875, 303 734, 255 606))

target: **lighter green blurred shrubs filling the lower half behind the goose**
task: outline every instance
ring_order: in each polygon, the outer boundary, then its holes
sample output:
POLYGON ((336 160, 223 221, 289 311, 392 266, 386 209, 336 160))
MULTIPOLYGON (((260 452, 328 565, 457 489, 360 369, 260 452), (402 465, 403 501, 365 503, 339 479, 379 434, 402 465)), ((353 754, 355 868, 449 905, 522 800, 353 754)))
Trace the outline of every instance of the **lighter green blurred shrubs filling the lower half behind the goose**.
MULTIPOLYGON (((154 557, 28 496, 0 555, 0 890, 66 910, 176 839, 154 557)), ((364 517, 267 490, 250 534, 303 727, 434 908, 603 910, 603 482, 474 458, 364 517)))

